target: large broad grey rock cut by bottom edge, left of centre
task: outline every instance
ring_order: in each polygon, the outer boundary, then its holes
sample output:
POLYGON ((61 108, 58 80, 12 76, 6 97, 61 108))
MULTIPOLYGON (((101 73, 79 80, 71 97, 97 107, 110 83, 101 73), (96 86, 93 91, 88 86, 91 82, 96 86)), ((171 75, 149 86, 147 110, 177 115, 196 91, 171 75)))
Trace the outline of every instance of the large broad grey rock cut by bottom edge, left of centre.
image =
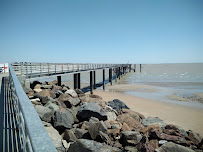
POLYGON ((70 145, 68 152, 121 152, 120 149, 93 140, 78 139, 70 145))

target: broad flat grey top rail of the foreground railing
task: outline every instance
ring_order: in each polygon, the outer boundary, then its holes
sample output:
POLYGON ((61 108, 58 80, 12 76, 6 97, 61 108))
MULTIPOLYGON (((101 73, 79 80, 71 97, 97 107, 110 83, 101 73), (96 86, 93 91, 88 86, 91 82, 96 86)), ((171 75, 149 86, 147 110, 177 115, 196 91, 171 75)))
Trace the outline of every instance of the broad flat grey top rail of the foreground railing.
POLYGON ((9 64, 10 77, 19 100, 19 108, 25 120, 25 129, 28 132, 34 152, 56 152, 46 129, 44 128, 35 108, 26 96, 12 66, 9 64))

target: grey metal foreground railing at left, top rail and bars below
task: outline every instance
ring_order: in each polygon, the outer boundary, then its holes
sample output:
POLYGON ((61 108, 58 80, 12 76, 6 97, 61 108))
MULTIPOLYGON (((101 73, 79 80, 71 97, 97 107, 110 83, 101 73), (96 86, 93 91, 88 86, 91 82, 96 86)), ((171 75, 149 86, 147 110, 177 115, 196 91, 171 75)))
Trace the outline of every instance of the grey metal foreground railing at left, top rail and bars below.
POLYGON ((34 106, 26 96, 13 68, 9 65, 9 81, 20 130, 23 152, 56 152, 34 106))

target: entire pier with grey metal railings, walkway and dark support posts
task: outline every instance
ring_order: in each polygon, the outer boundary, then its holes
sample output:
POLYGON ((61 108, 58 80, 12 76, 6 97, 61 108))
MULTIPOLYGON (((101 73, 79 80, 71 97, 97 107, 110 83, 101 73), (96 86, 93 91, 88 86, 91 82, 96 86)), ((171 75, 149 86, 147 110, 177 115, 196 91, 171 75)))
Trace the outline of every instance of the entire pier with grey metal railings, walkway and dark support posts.
POLYGON ((81 73, 88 72, 90 92, 96 89, 96 71, 102 70, 103 89, 105 72, 109 73, 109 83, 131 71, 131 64, 72 64, 72 63, 11 63, 9 75, 3 75, 1 84, 0 151, 56 151, 34 106, 25 94, 23 87, 30 78, 56 76, 61 84, 61 76, 73 76, 74 89, 81 89, 81 73))

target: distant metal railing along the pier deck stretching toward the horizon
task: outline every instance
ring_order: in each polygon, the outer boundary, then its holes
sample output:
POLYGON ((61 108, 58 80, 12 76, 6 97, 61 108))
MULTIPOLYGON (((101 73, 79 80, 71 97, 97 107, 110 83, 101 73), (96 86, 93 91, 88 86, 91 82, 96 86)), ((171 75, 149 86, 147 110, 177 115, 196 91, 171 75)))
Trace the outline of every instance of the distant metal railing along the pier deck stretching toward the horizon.
POLYGON ((25 75, 26 78, 90 71, 104 68, 131 66, 131 64, 36 63, 36 62, 19 62, 12 63, 11 65, 16 75, 25 75))

